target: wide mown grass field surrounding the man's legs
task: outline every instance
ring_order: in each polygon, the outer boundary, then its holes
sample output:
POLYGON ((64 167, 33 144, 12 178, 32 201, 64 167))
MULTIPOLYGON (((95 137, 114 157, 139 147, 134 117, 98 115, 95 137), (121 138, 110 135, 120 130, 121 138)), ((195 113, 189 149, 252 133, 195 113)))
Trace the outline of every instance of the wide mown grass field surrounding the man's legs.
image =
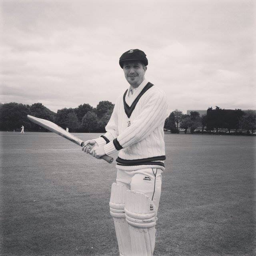
MULTIPOLYGON (((117 256, 115 164, 53 133, 0 136, 0 255, 117 256)), ((255 139, 165 135, 155 256, 256 255, 255 139)))

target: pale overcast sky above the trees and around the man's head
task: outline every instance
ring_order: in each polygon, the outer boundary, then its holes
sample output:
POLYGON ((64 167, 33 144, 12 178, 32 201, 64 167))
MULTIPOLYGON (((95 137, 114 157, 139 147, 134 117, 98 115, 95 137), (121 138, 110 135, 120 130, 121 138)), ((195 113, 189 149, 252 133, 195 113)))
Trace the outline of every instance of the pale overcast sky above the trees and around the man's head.
MULTIPOLYGON (((254 2, 255 3, 255 2, 254 2)), ((115 102, 121 54, 147 54, 169 110, 256 109, 251 0, 1 0, 0 102, 115 102)))

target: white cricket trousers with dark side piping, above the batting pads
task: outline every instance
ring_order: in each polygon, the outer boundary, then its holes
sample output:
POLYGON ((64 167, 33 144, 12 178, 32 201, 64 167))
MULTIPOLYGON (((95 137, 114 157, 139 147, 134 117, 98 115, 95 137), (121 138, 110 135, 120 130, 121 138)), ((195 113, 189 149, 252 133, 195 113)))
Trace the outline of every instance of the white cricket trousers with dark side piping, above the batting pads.
POLYGON ((124 184, 128 189, 148 196, 153 201, 157 213, 161 196, 161 169, 145 168, 135 171, 117 169, 116 183, 124 184))

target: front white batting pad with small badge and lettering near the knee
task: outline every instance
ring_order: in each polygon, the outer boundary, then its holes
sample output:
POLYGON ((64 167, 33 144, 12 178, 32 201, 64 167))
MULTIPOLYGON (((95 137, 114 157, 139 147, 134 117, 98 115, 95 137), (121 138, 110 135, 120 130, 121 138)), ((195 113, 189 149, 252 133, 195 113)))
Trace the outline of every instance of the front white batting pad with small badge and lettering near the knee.
POLYGON ((152 256, 156 240, 156 211, 152 200, 128 190, 124 210, 130 229, 132 256, 152 256))

